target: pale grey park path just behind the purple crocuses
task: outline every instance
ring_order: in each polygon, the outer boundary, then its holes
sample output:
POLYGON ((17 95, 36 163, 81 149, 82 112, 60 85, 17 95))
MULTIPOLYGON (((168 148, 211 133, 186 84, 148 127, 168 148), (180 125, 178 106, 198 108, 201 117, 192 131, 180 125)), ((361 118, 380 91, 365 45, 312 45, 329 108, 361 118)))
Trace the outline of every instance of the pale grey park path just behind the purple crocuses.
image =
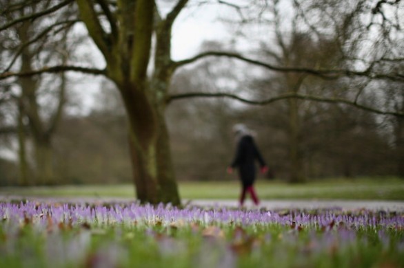
MULTIPOLYGON (((16 195, 1 195, 0 201, 29 200, 38 202, 58 202, 58 203, 129 203, 134 201, 130 198, 119 197, 21 197, 16 195)), ((227 206, 236 208, 236 200, 183 200, 185 205, 198 205, 203 207, 227 206)), ((374 201, 374 200, 262 200, 258 207, 249 200, 245 202, 245 208, 263 208, 267 210, 283 209, 321 209, 321 208, 341 208, 343 210, 385 210, 404 212, 404 201, 374 201)))

